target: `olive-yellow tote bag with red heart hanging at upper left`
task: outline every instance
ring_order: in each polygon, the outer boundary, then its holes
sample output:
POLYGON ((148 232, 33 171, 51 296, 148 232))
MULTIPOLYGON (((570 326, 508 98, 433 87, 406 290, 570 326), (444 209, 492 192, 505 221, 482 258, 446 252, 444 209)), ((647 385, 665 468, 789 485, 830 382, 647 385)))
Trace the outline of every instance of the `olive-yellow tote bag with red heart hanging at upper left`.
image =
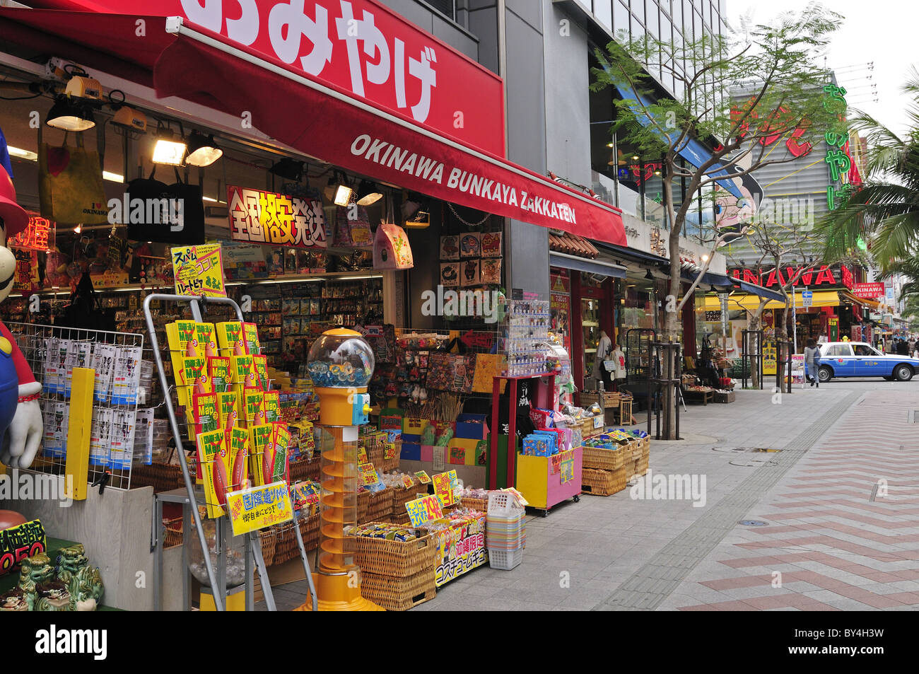
POLYGON ((39 127, 39 201, 42 217, 56 223, 108 223, 99 154, 84 147, 82 133, 75 146, 65 134, 57 147, 42 141, 39 127))

